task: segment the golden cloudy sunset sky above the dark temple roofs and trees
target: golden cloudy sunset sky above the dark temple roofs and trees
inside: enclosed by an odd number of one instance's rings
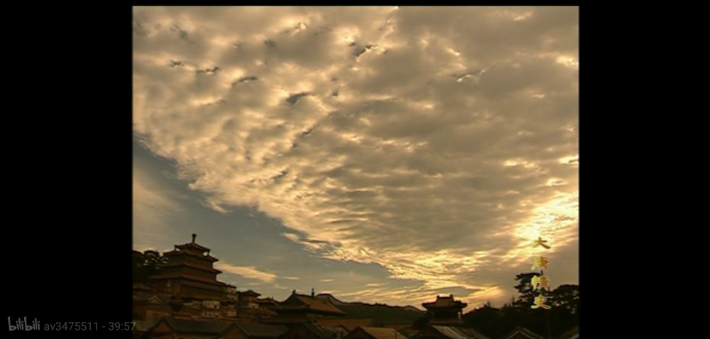
[[[502,306],[537,255],[578,284],[578,7],[134,7],[132,34],[134,249],[196,233],[277,300]]]

